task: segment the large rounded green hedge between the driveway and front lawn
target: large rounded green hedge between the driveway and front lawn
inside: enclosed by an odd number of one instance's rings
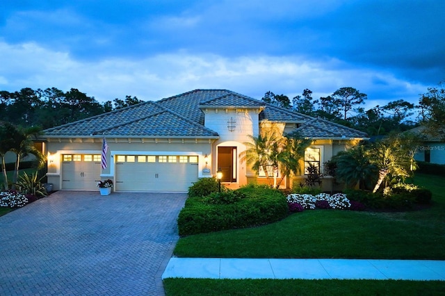
[[[178,217],[179,235],[254,227],[288,215],[284,195],[267,186],[248,185],[216,200],[214,194],[188,197]]]

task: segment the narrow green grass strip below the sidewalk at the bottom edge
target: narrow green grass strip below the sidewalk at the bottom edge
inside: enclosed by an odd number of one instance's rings
[[[166,295],[445,295],[441,281],[165,279]]]

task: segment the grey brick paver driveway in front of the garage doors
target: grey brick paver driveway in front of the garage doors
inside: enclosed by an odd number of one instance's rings
[[[55,192],[0,217],[0,295],[164,295],[186,194]]]

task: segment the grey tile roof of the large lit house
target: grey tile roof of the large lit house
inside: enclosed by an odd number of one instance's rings
[[[366,133],[327,120],[266,104],[230,90],[192,90],[159,101],[147,101],[44,131],[47,137],[209,137],[218,133],[204,126],[206,107],[262,108],[259,120],[296,122],[295,132],[309,138],[364,138]]]

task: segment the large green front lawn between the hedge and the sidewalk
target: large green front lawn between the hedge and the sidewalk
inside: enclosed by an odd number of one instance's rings
[[[180,257],[445,259],[442,177],[416,176],[433,191],[429,208],[408,212],[307,210],[251,229],[180,238]],[[437,184],[437,185],[435,185]]]

